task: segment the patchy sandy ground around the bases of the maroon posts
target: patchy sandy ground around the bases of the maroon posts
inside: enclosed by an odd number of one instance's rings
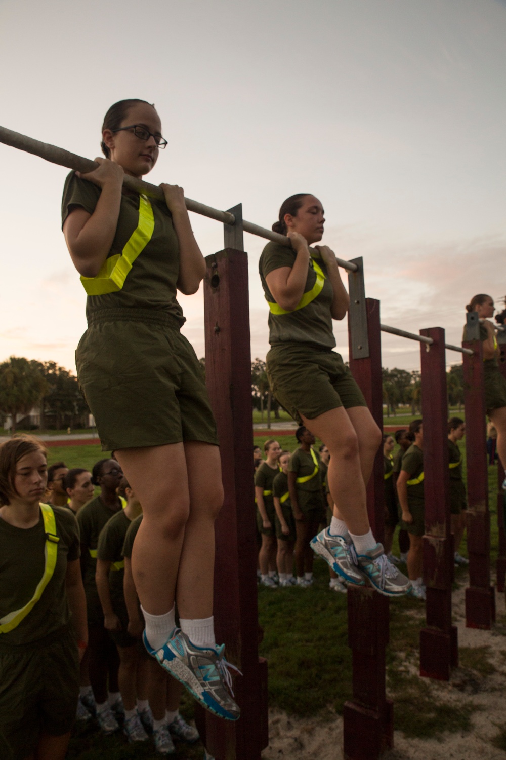
[[[506,760],[506,752],[495,748],[492,739],[506,727],[506,626],[504,595],[496,594],[498,624],[492,631],[465,627],[463,584],[454,592],[454,619],[460,647],[489,647],[497,671],[482,677],[476,671],[456,670],[449,683],[435,682],[441,701],[473,701],[480,709],[473,714],[469,733],[446,733],[440,739],[407,739],[394,734],[394,749],[383,760]],[[394,707],[395,709],[395,707]],[[288,717],[271,711],[270,743],[263,760],[342,760],[343,721],[331,722]]]

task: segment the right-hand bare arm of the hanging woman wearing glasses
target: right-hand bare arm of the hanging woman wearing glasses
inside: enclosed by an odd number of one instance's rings
[[[165,203],[172,214],[172,223],[179,242],[178,290],[191,296],[199,290],[206,274],[206,261],[200,252],[190,225],[190,217],[184,203],[184,191],[178,185],[160,185]]]

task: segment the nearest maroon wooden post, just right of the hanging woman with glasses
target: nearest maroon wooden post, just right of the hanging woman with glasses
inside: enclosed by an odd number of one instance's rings
[[[215,631],[234,677],[240,720],[206,713],[206,747],[216,760],[260,760],[269,743],[266,661],[258,657],[248,264],[244,251],[208,256],[204,283],[206,385],[218,425],[225,502],[216,521]],[[200,724],[202,724],[200,714]]]

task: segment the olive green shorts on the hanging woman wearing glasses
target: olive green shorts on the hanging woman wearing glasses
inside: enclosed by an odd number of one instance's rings
[[[218,445],[202,367],[174,318],[150,309],[95,313],[76,366],[103,451]]]

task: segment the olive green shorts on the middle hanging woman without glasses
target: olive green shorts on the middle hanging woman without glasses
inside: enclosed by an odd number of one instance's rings
[[[267,354],[272,393],[299,423],[338,407],[366,407],[362,391],[341,355],[311,344],[275,344]]]

